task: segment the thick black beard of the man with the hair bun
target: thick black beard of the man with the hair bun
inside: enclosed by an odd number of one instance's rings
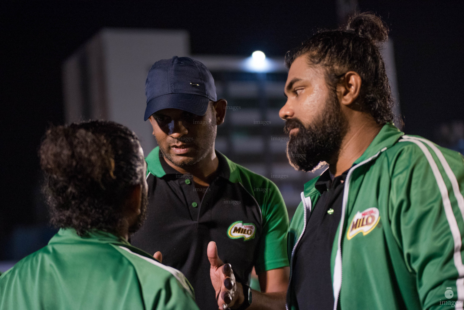
[[[332,94],[314,123],[306,128],[296,118],[287,120],[284,132],[288,134],[293,128],[299,131],[290,136],[287,158],[293,168],[308,172],[338,156],[343,137],[348,131],[348,122],[340,109],[338,98]]]

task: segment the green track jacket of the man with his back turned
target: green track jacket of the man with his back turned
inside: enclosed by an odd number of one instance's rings
[[[198,310],[187,279],[111,233],[60,229],[0,277],[0,310]]]

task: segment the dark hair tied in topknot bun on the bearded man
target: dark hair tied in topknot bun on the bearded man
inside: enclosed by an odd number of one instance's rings
[[[387,40],[385,23],[373,13],[360,13],[351,17],[345,28],[319,31],[287,52],[285,64],[290,68],[296,58],[305,55],[309,65],[325,68],[327,84],[333,91],[346,72],[357,72],[361,77],[357,101],[361,110],[371,114],[376,123],[385,124],[393,121],[393,99],[377,45]]]

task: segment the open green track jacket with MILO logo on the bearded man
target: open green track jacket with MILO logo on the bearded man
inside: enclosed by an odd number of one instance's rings
[[[320,197],[304,185],[290,223],[292,267]],[[334,310],[463,309],[464,158],[387,123],[350,168],[331,256]],[[323,296],[321,296],[323,298]]]

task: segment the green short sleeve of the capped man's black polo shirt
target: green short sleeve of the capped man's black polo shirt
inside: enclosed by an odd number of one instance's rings
[[[284,199],[277,186],[270,180],[264,193],[261,212],[263,233],[259,255],[255,264],[257,274],[271,269],[289,266],[287,258],[287,231],[289,217]]]

